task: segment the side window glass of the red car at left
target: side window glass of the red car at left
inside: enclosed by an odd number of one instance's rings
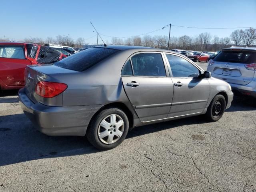
[[[0,46],[0,57],[25,59],[23,46]]]

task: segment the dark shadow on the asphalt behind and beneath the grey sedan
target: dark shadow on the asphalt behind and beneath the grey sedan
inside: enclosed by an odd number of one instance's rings
[[[131,130],[127,138],[206,121],[202,116],[142,126]],[[38,132],[24,114],[0,116],[0,166],[100,152],[80,136],[46,136]]]

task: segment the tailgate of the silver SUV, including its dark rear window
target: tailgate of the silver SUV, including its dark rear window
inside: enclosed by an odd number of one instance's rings
[[[213,76],[228,83],[246,85],[254,77],[255,70],[250,64],[256,63],[256,51],[224,50],[213,60]]]

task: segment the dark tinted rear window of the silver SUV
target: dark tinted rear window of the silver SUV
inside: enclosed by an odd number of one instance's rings
[[[222,51],[213,60],[218,62],[251,64],[256,62],[256,52]]]

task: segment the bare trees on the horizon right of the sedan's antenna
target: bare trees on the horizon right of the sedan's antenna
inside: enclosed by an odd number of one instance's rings
[[[167,36],[150,36],[146,35],[142,38],[139,36],[133,38],[112,38],[113,45],[133,45],[146,46],[154,48],[168,48]],[[197,36],[190,37],[187,35],[180,37],[170,37],[169,49],[184,49],[197,51],[217,51],[222,48],[235,46],[252,46],[256,43],[256,29],[249,28],[246,30],[235,30],[230,37],[219,38],[212,36],[208,32],[201,33]]]

